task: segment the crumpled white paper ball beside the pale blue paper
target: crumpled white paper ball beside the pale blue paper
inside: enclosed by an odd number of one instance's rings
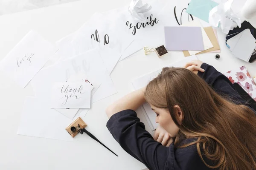
[[[240,18],[231,9],[233,1],[228,0],[225,3],[220,3],[209,12],[209,24],[214,27],[221,26],[221,30],[225,34],[237,26],[241,27]]]

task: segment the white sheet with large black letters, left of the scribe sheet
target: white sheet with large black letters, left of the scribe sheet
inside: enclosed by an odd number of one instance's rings
[[[111,20],[110,20],[111,18]],[[67,59],[98,48],[109,74],[121,54],[133,42],[125,23],[118,15],[95,13],[78,31],[56,42],[61,59]]]

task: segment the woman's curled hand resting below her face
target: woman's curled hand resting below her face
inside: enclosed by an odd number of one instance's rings
[[[170,144],[172,144],[173,142],[172,137],[169,136],[169,133],[161,126],[157,127],[154,132],[153,138],[155,141],[160,142],[163,146],[166,147],[170,146]]]

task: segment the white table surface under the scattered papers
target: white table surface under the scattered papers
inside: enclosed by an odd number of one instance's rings
[[[35,29],[47,40],[55,42],[76,31],[96,11],[108,11],[128,5],[129,0],[81,0],[0,17],[0,59]],[[256,20],[249,20],[256,26]],[[198,58],[226,72],[246,65],[252,76],[256,75],[256,62],[236,59],[225,46],[225,35],[218,30],[221,58],[201,54]],[[146,45],[145,45],[146,46]],[[63,142],[17,135],[20,113],[26,96],[33,95],[31,85],[21,89],[0,72],[0,170],[141,170],[145,165],[129,156],[113,139],[106,122],[105,108],[119,97],[132,91],[131,81],[172,62],[183,59],[182,52],[169,52],[161,59],[152,53],[148,56],[138,51],[119,62],[111,74],[117,94],[93,103],[83,117],[87,130],[119,155],[114,156],[86,135],[78,135],[74,142]],[[143,115],[138,112],[138,115]],[[70,121],[71,122],[71,121]],[[148,125],[146,125],[148,128]],[[35,127],[36,128],[36,127]]]

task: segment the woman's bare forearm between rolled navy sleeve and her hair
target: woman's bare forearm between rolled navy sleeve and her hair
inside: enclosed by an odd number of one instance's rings
[[[136,90],[117,100],[106,109],[108,118],[124,110],[137,110],[145,102],[145,88]]]

